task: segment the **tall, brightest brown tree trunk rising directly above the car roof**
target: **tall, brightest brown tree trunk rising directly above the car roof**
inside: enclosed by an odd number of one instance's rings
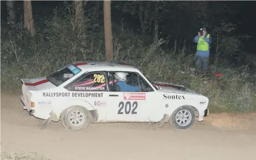
[[[104,1],[104,34],[106,60],[113,60],[113,35],[111,26],[111,1]]]

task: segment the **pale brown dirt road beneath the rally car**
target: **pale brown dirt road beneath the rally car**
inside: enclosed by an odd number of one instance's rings
[[[92,124],[72,132],[61,122],[43,131],[23,110],[19,94],[1,93],[2,159],[255,159],[256,114],[218,114],[189,130],[168,123]],[[43,157],[42,157],[43,156]]]

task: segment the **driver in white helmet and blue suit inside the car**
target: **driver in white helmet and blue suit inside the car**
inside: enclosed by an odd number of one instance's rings
[[[118,80],[118,82],[116,82],[116,84],[118,84],[118,86],[120,87],[120,92],[137,92],[140,87],[138,86],[131,86],[129,84],[126,83],[126,76],[129,75],[129,73],[125,73],[125,72],[116,72],[114,74],[114,77],[116,80]]]

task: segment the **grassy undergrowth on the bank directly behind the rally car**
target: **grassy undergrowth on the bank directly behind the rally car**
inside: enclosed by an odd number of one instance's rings
[[[21,89],[20,78],[45,76],[71,62],[104,61],[104,28],[90,25],[77,30],[69,18],[55,16],[42,29],[36,28],[34,38],[23,29],[10,32],[1,27],[1,87]],[[116,26],[113,37],[114,61],[136,66],[151,81],[198,90],[209,97],[212,112],[256,110],[256,75],[249,74],[246,66],[217,67],[223,77],[213,76],[216,67],[204,75],[195,70],[193,56],[162,50],[161,39],[145,45],[140,35]]]

